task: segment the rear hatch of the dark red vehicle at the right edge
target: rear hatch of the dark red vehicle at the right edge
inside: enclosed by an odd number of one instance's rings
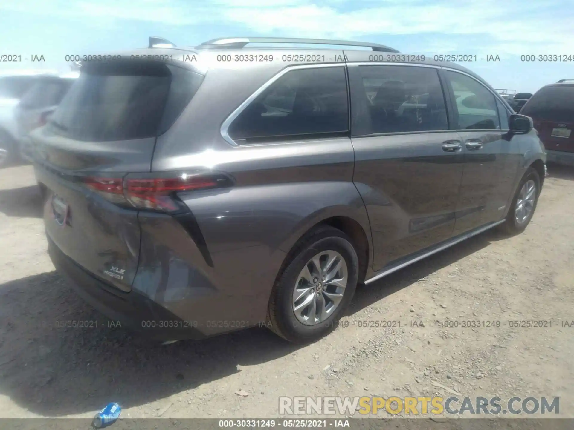
[[[574,153],[574,85],[541,88],[520,111],[534,122],[546,150]]]

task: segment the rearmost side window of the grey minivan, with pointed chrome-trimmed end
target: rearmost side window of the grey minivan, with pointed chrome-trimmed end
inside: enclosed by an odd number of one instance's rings
[[[241,144],[348,130],[345,71],[328,67],[285,73],[239,114],[227,132]]]

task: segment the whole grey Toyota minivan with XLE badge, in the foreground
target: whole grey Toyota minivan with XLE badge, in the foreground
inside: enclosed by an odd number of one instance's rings
[[[312,341],[357,283],[532,218],[532,120],[460,65],[349,41],[153,45],[84,63],[32,134],[53,263],[149,337],[264,323]]]

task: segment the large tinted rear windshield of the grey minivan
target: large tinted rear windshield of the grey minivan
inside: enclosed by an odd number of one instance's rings
[[[88,65],[52,116],[51,128],[84,141],[157,136],[172,126],[202,81],[198,73],[164,63]]]

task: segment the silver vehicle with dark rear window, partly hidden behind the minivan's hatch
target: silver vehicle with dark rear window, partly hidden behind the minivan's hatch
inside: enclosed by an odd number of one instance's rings
[[[44,126],[48,117],[56,110],[68,89],[80,76],[79,71],[63,75],[39,76],[32,87],[24,94],[15,108],[17,139],[20,157],[32,162],[32,143],[29,134],[32,130]]]

